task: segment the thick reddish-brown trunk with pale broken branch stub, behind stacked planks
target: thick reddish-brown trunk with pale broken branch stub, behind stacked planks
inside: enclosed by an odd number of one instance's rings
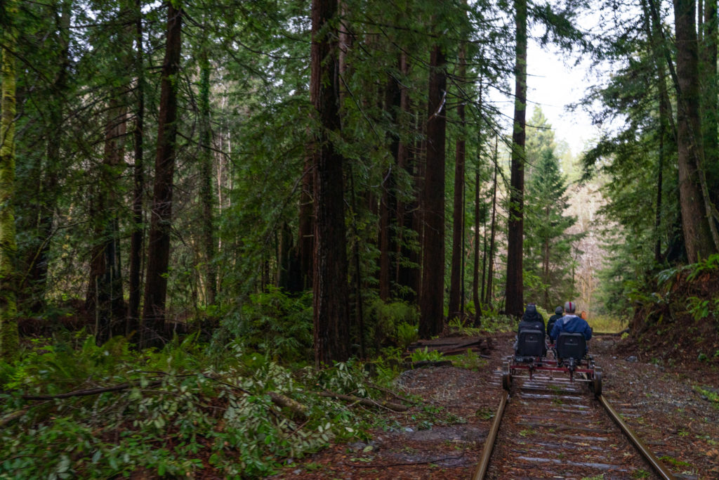
[[[422,286],[419,337],[431,338],[444,328],[444,145],[446,139],[446,73],[439,45],[429,60],[429,119],[423,185]]]

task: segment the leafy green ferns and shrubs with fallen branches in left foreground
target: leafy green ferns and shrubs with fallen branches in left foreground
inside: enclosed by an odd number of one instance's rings
[[[369,394],[354,362],[297,375],[240,343],[218,357],[195,338],[140,353],[75,341],[0,362],[0,478],[256,478],[372,420],[316,393]]]

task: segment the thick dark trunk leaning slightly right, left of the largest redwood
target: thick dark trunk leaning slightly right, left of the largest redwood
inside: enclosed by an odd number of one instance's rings
[[[157,122],[155,183],[152,189],[150,239],[147,245],[145,305],[142,309],[142,345],[160,345],[165,327],[165,301],[168,291],[170,232],[172,228],[173,175],[178,112],[178,73],[182,10],[168,4],[168,32],[160,83],[160,114]]]

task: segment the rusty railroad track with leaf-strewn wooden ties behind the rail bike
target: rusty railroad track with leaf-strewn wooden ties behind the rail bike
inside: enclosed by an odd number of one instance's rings
[[[535,373],[510,384],[473,480],[674,478],[587,383]]]

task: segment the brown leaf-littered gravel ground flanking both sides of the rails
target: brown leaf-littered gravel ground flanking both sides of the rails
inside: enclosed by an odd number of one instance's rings
[[[493,335],[490,358],[476,371],[455,366],[404,371],[397,389],[421,402],[407,412],[377,412],[378,426],[367,441],[330,445],[288,462],[272,478],[471,478],[498,407],[501,363],[513,339],[510,333]],[[717,338],[709,341],[707,348],[719,351]],[[613,335],[590,341],[603,370],[603,394],[613,404],[631,405],[635,415],[625,420],[678,478],[719,479],[719,358],[697,359],[697,350],[658,358],[652,344],[649,338],[638,343]],[[533,453],[541,456],[541,450]]]

